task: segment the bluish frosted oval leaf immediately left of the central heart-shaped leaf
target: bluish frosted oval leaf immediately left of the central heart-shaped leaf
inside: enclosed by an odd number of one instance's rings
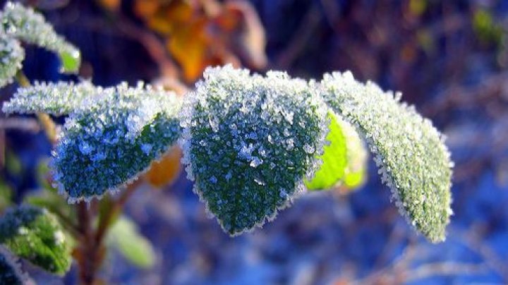
[[[85,99],[66,120],[52,169],[69,202],[100,198],[133,181],[179,136],[179,99],[121,84]]]

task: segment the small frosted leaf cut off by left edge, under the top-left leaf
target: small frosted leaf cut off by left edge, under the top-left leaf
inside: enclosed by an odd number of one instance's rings
[[[20,42],[8,37],[0,29],[0,87],[12,83],[14,76],[21,69],[25,59],[25,50]]]

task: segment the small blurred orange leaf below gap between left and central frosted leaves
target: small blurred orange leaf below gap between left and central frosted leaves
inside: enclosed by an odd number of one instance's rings
[[[159,162],[152,162],[150,170],[145,174],[146,181],[155,188],[162,188],[173,182],[181,172],[181,155],[180,147],[171,147]]]

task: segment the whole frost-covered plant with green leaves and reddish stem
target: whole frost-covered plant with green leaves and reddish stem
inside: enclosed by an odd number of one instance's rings
[[[401,103],[399,93],[359,83],[349,72],[316,82],[232,66],[207,68],[183,100],[144,83],[30,85],[20,72],[19,40],[56,52],[68,72],[78,71],[79,51],[31,8],[8,2],[0,20],[0,87],[13,78],[21,85],[3,111],[36,114],[49,135],[58,133],[51,181],[67,202],[77,202],[60,203],[49,190],[1,217],[0,268],[6,273],[0,282],[26,279],[11,262],[16,255],[60,275],[74,258],[80,280],[92,284],[104,239],[136,264],[152,265],[143,259],[153,255],[150,243],[126,217],[118,218],[133,188],[123,189],[177,141],[193,190],[231,236],[271,221],[306,190],[360,186],[363,138],[401,214],[429,241],[445,238],[452,214],[450,155],[442,134]],[[55,127],[49,115],[64,116],[65,123]],[[97,216],[90,209],[95,206]],[[131,247],[146,254],[140,260]]]

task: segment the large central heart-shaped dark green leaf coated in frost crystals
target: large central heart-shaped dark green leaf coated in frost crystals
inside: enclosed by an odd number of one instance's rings
[[[317,87],[279,72],[207,68],[196,87],[182,110],[182,161],[224,231],[241,234],[274,219],[313,175],[327,108]]]

